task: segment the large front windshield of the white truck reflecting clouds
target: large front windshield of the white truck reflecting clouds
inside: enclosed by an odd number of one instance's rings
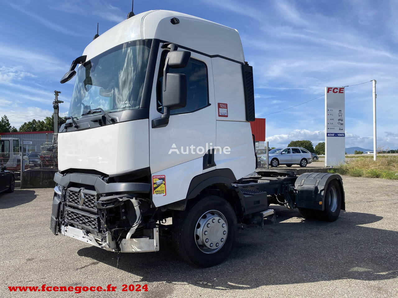
[[[80,65],[68,116],[81,118],[90,109],[105,112],[140,107],[151,41],[116,46]]]

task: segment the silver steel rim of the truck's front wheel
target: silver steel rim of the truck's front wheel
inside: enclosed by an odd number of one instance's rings
[[[196,223],[195,242],[201,252],[217,252],[224,245],[227,235],[228,223],[220,211],[207,211]]]

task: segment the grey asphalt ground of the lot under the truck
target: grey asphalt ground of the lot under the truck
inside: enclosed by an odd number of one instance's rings
[[[232,254],[207,269],[174,253],[117,254],[54,236],[52,189],[0,194],[0,297],[397,297],[398,181],[343,176],[346,212],[308,221],[271,205],[277,223],[238,229]],[[10,292],[8,286],[117,286],[116,292]],[[147,292],[122,292],[148,284]]]

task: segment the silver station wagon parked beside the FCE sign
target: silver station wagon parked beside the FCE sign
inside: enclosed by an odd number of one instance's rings
[[[261,156],[260,158],[265,162],[267,161],[266,156]],[[275,148],[268,153],[268,164],[273,167],[280,164],[307,166],[309,163],[312,163],[311,153],[301,147]]]

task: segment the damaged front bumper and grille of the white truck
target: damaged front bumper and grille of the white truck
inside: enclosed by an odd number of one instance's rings
[[[159,250],[158,228],[154,224],[142,226],[141,201],[137,199],[150,192],[150,184],[107,183],[100,176],[88,174],[56,173],[54,180],[57,186],[50,224],[53,234],[113,252]],[[128,232],[118,236],[113,234],[115,230]]]

